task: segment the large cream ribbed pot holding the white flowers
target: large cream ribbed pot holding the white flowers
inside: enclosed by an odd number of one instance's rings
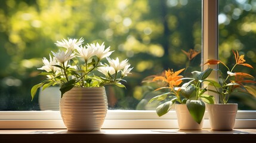
[[[60,114],[67,130],[100,130],[107,114],[105,88],[72,88],[60,100]]]

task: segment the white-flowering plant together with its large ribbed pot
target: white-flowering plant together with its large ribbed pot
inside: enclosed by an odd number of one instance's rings
[[[128,60],[119,61],[109,56],[113,51],[104,43],[88,43],[84,39],[63,39],[51,51],[50,59],[43,58],[44,70],[40,75],[47,78],[31,89],[32,100],[38,88],[59,85],[61,91],[60,113],[68,130],[99,130],[107,111],[105,85],[121,88],[121,81],[132,68]],[[107,63],[103,63],[107,61]],[[89,119],[90,118],[90,119]],[[70,120],[72,119],[72,120]]]

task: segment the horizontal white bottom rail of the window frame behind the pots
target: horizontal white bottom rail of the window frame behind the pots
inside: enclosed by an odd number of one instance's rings
[[[104,129],[177,129],[175,111],[108,110]],[[211,128],[205,113],[203,129]],[[238,111],[236,129],[256,129],[256,111]],[[66,129],[59,111],[0,111],[0,129]]]

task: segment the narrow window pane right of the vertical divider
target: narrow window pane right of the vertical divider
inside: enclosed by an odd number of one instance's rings
[[[256,77],[256,1],[255,0],[227,0],[219,1],[219,57],[226,65],[235,65],[232,52],[238,51],[245,55],[245,63],[254,69],[237,66],[234,72],[245,72]],[[220,66],[221,70],[225,67]],[[254,80],[255,81],[255,80]],[[254,87],[255,84],[246,84]],[[256,98],[250,94],[233,92],[230,102],[238,103],[239,110],[256,110]]]

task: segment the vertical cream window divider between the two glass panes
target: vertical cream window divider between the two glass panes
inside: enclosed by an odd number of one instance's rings
[[[208,59],[218,59],[218,0],[203,0],[202,1],[202,64]],[[211,67],[218,69],[217,65],[202,66],[202,71]],[[213,71],[208,79],[218,80],[217,72]],[[208,87],[211,88],[211,87]],[[214,90],[214,88],[212,87]],[[218,103],[218,95],[214,95],[215,101]]]

